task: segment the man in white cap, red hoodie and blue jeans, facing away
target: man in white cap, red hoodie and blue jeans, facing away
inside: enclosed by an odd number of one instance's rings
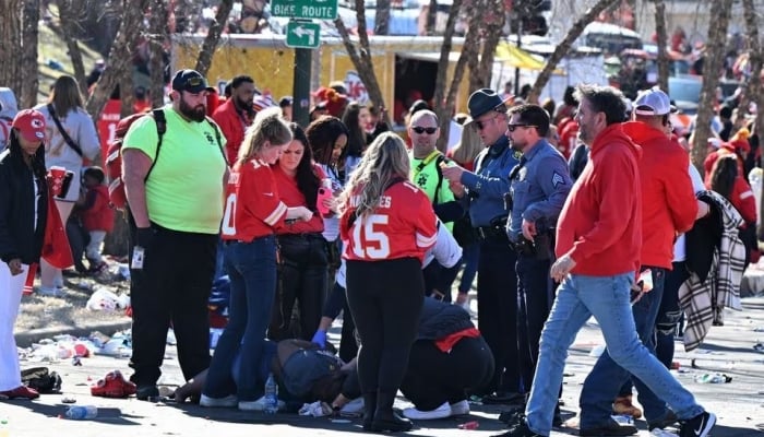
[[[699,211],[707,205],[695,199],[688,173],[690,157],[678,142],[666,134],[671,114],[669,96],[658,88],[641,92],[634,101],[633,121],[623,123],[623,133],[642,147],[640,191],[642,192],[642,248],[640,273],[650,275],[652,290],[638,295],[632,305],[636,332],[642,343],[655,353],[655,320],[664,294],[664,281],[671,270],[673,240],[689,231]],[[701,206],[702,205],[702,206]],[[648,292],[648,293],[647,293]],[[677,421],[666,402],[658,399],[642,381],[634,379],[640,403],[650,429]],[[623,386],[623,388],[621,388]],[[619,392],[618,390],[621,389]],[[638,418],[642,413],[631,404],[632,382],[629,371],[616,364],[606,351],[584,381],[581,391],[581,435],[631,435],[636,428],[621,426],[611,410]],[[619,394],[616,398],[616,394]],[[616,398],[616,403],[611,409]]]

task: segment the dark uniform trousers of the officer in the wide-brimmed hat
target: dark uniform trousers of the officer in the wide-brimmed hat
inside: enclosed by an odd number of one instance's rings
[[[520,392],[517,361],[517,253],[505,238],[480,240],[478,328],[493,353],[492,391]]]

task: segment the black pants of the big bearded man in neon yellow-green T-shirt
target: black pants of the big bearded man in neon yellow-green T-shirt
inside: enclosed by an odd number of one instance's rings
[[[144,247],[143,269],[131,269],[133,354],[130,378],[139,386],[159,379],[167,329],[178,341],[178,361],[186,380],[210,367],[207,300],[215,271],[217,234],[183,233],[152,225],[155,235]],[[131,235],[132,257],[134,229]]]

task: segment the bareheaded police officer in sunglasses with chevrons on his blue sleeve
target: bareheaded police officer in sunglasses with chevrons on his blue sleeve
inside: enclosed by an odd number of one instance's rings
[[[525,392],[530,392],[538,342],[553,300],[549,268],[554,225],[572,182],[565,158],[545,138],[549,114],[538,105],[520,105],[509,116],[506,137],[523,155],[510,173],[506,234],[517,252],[520,373]]]

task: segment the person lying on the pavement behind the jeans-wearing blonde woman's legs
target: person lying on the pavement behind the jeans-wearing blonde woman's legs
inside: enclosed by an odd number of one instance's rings
[[[252,371],[258,383],[264,386],[272,373],[279,385],[279,409],[297,411],[303,402],[326,402],[338,411],[351,400],[360,397],[356,359],[343,363],[329,343],[321,347],[305,340],[289,339],[280,342],[263,340],[263,358]],[[239,375],[240,356],[234,361],[231,378]],[[206,381],[203,370],[175,392],[176,402],[198,400]],[[282,404],[280,401],[285,403]],[[264,408],[264,398],[256,401]],[[214,406],[236,406],[230,405]],[[206,405],[205,405],[206,406]],[[261,409],[262,410],[262,409]]]

